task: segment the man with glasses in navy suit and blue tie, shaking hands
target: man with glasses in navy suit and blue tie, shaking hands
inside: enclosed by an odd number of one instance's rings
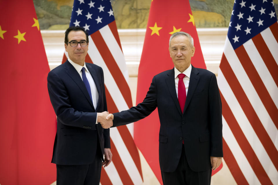
[[[83,28],[66,30],[65,50],[68,60],[47,76],[57,116],[52,156],[57,185],[99,184],[101,166],[108,166],[112,160],[109,129],[98,124],[107,115],[103,70],[85,63],[88,34]],[[112,120],[109,122],[112,124]]]

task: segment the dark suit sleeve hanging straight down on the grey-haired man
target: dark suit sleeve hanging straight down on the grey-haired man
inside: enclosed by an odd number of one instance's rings
[[[209,84],[209,115],[211,126],[211,156],[223,157],[222,149],[222,103],[215,75]]]

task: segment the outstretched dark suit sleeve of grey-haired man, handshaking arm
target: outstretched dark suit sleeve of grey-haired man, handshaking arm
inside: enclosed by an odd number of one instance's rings
[[[129,110],[114,113],[113,127],[136,122],[151,114],[157,107],[156,90],[156,79],[153,77],[144,101],[135,107],[131,107]]]

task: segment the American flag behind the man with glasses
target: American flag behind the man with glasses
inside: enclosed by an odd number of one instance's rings
[[[75,0],[69,26],[83,27],[89,34],[85,62],[103,69],[108,112],[120,112],[132,107],[129,75],[111,2]],[[142,184],[139,153],[132,136],[132,124],[110,129],[113,158],[108,167],[102,168],[101,184]]]

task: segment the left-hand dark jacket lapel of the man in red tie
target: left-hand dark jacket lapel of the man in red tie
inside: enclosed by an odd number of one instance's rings
[[[168,76],[166,77],[165,81],[168,87],[168,90],[173,98],[173,101],[176,105],[176,107],[178,108],[180,114],[182,115],[182,111],[180,110],[180,104],[178,101],[178,97],[177,97],[177,92],[176,92],[176,87],[175,87],[175,72],[174,69],[172,69],[168,74]]]

